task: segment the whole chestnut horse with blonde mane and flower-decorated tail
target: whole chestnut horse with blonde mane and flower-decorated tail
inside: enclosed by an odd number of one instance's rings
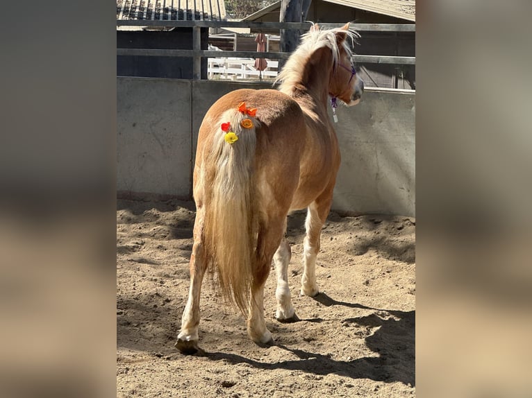
[[[295,320],[285,240],[287,215],[308,209],[301,294],[318,294],[316,255],[333,199],[340,150],[327,114],[329,96],[356,105],[363,82],[351,64],[342,28],[314,25],[290,55],[275,89],[238,89],[210,107],[199,128],[193,194],[197,215],[190,257],[190,291],[176,347],[198,351],[199,297],[206,270],[222,295],[247,316],[247,332],[272,344],[263,293],[275,263],[276,318]]]

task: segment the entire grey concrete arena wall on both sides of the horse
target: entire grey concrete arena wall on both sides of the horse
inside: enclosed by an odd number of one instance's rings
[[[117,78],[117,190],[190,197],[203,115],[234,89],[269,84]],[[415,216],[415,95],[367,90],[338,107],[333,209]],[[332,116],[331,116],[332,117]]]

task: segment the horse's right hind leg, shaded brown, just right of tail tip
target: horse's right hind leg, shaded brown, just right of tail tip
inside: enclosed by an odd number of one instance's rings
[[[272,266],[272,259],[276,248],[283,237],[283,217],[270,218],[267,225],[261,224],[257,239],[256,268],[253,270],[251,283],[251,302],[247,320],[247,333],[256,343],[273,343],[272,334],[266,327],[264,320],[264,285]]]

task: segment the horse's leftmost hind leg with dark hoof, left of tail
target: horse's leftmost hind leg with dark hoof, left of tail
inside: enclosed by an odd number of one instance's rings
[[[207,269],[203,245],[203,214],[203,209],[199,208],[194,222],[194,245],[190,256],[190,291],[176,343],[176,347],[183,354],[195,354],[198,351],[199,297],[201,282]]]

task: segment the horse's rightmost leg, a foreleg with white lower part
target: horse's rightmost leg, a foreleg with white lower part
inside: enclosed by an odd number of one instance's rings
[[[304,248],[304,271],[301,277],[301,295],[314,297],[319,293],[316,284],[316,256],[319,252],[319,239],[322,234],[322,226],[331,209],[331,195],[317,198],[310,203],[305,222]]]

